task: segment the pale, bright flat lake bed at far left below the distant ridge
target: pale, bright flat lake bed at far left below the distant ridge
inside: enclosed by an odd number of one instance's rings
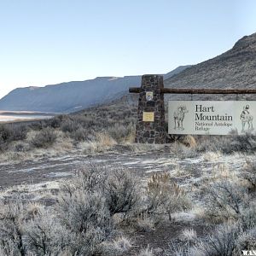
[[[1,111],[0,110],[0,123],[16,122],[32,119],[49,119],[55,113],[44,112],[26,112],[26,111]]]

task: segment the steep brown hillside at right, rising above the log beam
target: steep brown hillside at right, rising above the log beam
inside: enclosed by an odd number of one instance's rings
[[[241,38],[224,54],[166,79],[165,86],[253,88],[256,86],[256,33]]]

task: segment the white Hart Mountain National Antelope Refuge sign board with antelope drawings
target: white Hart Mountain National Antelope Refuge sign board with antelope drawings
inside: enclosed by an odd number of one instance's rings
[[[254,117],[255,115],[255,117]],[[169,101],[169,134],[228,135],[253,132],[256,102]]]

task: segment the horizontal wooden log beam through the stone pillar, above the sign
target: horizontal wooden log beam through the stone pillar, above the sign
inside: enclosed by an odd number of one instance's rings
[[[141,88],[131,87],[129,88],[131,93],[140,93]],[[173,89],[173,88],[161,88],[161,93],[172,94],[256,94],[256,89]]]

